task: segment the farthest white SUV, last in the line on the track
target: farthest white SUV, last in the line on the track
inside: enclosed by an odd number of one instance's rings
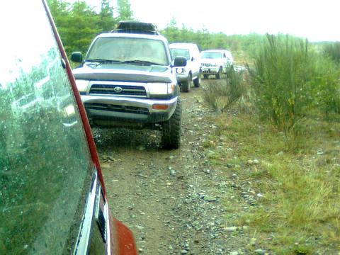
[[[221,79],[222,74],[227,72],[227,67],[234,62],[232,53],[228,50],[203,50],[200,57],[204,79],[208,79],[210,74],[215,75],[216,79]]]

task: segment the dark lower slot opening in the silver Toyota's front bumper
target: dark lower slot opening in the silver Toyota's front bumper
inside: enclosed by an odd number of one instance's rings
[[[119,106],[106,103],[84,103],[86,109],[112,111],[118,113],[136,113],[148,115],[149,110],[147,108],[135,107],[135,106]]]

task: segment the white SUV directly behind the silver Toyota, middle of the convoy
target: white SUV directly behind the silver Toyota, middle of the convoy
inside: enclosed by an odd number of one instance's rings
[[[192,84],[200,86],[200,50],[195,43],[171,43],[171,56],[186,57],[186,67],[176,67],[177,81],[183,92],[189,92]]]

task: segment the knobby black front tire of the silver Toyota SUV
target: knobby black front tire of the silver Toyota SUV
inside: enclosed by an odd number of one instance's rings
[[[171,118],[162,123],[162,145],[164,149],[179,149],[181,145],[182,102],[177,98],[177,106]]]

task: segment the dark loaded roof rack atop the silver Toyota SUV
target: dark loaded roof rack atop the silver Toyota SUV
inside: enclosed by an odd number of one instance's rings
[[[159,35],[157,26],[153,23],[140,21],[120,21],[117,28],[111,30],[111,33],[139,33],[147,35]]]

